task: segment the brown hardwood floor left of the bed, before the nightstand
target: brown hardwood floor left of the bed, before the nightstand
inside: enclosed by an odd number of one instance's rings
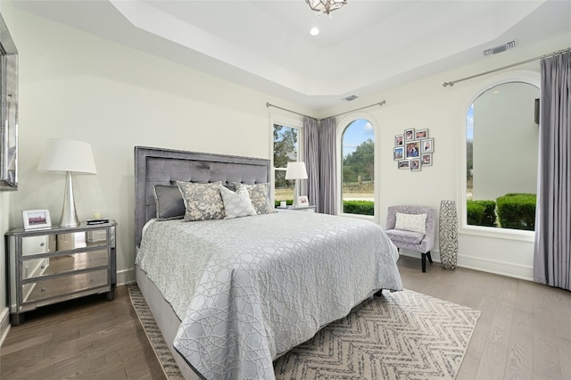
[[[0,348],[0,378],[165,379],[126,286],[26,313]]]

